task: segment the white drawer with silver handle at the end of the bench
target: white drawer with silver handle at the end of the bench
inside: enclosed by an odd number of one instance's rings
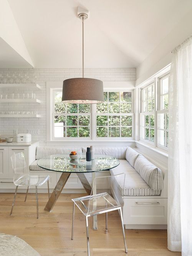
[[[167,224],[167,198],[124,198],[124,224]]]

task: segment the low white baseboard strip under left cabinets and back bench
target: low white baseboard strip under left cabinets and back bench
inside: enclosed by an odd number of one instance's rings
[[[50,193],[52,193],[52,192],[53,192],[53,189],[50,189]],[[3,190],[1,189],[0,193],[15,193],[15,189],[3,189]],[[26,193],[26,189],[18,189],[17,193]],[[35,189],[33,189],[33,188],[29,189],[28,193],[35,193]],[[48,193],[48,192],[47,192],[47,189],[40,188],[40,189],[38,189],[38,193]],[[66,188],[61,193],[62,194],[86,194],[86,191],[84,189],[80,189],[80,188],[79,189],[78,188],[75,188],[75,189]]]

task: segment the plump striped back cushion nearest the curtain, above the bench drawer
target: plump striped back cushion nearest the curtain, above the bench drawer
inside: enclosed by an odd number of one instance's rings
[[[135,170],[141,175],[144,181],[152,190],[163,189],[163,173],[148,161],[144,156],[139,155],[134,164]]]

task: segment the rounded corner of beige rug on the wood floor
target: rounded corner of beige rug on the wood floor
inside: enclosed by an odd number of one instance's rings
[[[0,234],[0,256],[40,256],[40,254],[21,238]]]

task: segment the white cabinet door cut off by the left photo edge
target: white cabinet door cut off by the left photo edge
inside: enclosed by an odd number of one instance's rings
[[[0,147],[0,178],[8,178],[8,147]]]

